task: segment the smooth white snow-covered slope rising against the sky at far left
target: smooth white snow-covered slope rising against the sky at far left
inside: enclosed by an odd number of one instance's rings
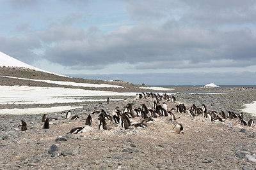
[[[13,57],[10,57],[9,55],[0,52],[0,67],[24,67],[28,69],[35,69],[36,71],[42,71],[45,73],[50,73],[49,71],[45,71],[43,69],[38,69],[37,67],[30,66],[29,64],[26,64],[25,62],[22,62],[20,60],[14,59]]]

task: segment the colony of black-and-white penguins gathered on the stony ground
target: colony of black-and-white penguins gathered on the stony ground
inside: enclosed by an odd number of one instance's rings
[[[166,103],[176,103],[176,99],[174,96],[168,96],[167,94],[155,94],[155,93],[141,93],[136,95],[136,99],[153,99],[152,108],[148,108],[146,104],[141,104],[138,108],[132,108],[132,104],[128,103],[124,106],[123,110],[119,110],[117,107],[115,111],[113,111],[112,115],[107,114],[103,109],[100,111],[93,111],[92,114],[98,114],[98,129],[99,130],[108,130],[111,129],[110,125],[114,125],[116,127],[120,127],[120,129],[132,129],[132,128],[147,128],[149,124],[154,122],[154,118],[157,117],[167,117],[170,121],[175,121],[178,118],[175,117],[175,113],[184,113],[190,115],[190,117],[197,117],[202,115],[202,117],[209,120],[209,122],[220,121],[224,122],[227,118],[234,119],[237,118],[239,124],[248,125],[249,127],[253,127],[255,125],[254,120],[250,119],[248,122],[244,120],[243,113],[237,114],[232,111],[221,111],[220,113],[217,111],[209,111],[205,104],[202,104],[202,108],[198,108],[195,104],[193,104],[188,110],[185,104],[177,104],[176,108],[168,109]],[[107,103],[109,103],[109,97],[107,99]],[[79,119],[78,115],[74,115],[71,117],[71,110],[67,112],[63,112],[65,114],[66,119],[77,120]],[[141,118],[141,119],[140,119]],[[42,116],[42,122],[44,122],[44,129],[49,129],[51,120],[58,120],[58,118],[48,118],[47,114]],[[140,121],[138,121],[140,120]],[[27,124],[22,121],[21,131],[27,130]],[[81,120],[82,121],[82,120]],[[177,122],[177,121],[176,121]],[[174,131],[177,134],[182,134],[184,127],[180,123],[175,123],[176,125],[170,131]],[[85,124],[81,127],[75,127],[71,129],[69,134],[78,134],[86,131],[86,129],[92,128],[92,116],[89,114],[85,120]],[[67,133],[67,134],[68,134]]]

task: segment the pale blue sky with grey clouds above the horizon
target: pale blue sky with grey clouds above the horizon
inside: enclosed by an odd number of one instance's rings
[[[256,84],[255,0],[0,0],[0,51],[146,85]]]

